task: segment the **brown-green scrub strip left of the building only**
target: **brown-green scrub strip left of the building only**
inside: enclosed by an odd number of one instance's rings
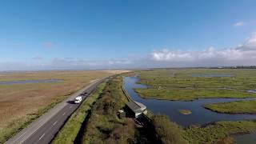
[[[122,92],[122,77],[110,79],[102,97],[95,103],[89,118],[83,143],[130,143],[143,141],[133,119],[118,118],[117,111],[127,102]]]

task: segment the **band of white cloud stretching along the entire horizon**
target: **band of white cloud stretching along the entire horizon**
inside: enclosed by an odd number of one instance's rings
[[[134,51],[135,53],[136,51]],[[82,70],[125,69],[182,66],[239,66],[256,65],[256,33],[238,46],[206,50],[155,50],[147,56],[88,60],[83,58],[34,57],[31,62],[0,62],[1,70]]]

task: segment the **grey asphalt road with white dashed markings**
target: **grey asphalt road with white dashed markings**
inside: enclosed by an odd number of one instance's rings
[[[93,82],[89,86],[72,94],[70,98],[54,106],[49,112],[43,114],[24,130],[10,138],[6,144],[50,143],[54,135],[57,134],[58,130],[65,124],[67,118],[78,108],[79,104],[72,104],[71,101],[79,95],[81,95],[82,100],[84,100],[104,80],[106,80],[106,78]]]

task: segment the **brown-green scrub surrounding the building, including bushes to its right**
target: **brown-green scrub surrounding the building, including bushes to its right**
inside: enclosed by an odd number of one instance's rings
[[[182,130],[165,116],[151,115],[150,126],[137,126],[132,118],[118,118],[127,102],[122,78],[108,82],[84,129],[83,143],[186,143]]]

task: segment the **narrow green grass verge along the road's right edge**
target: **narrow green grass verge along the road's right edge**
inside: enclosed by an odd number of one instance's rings
[[[89,114],[94,102],[96,102],[100,94],[102,94],[102,90],[104,90],[105,86],[106,83],[102,83],[100,86],[98,86],[98,90],[94,91],[93,94],[90,94],[90,96],[86,98],[84,102],[82,102],[78,110],[71,115],[69,120],[62,127],[62,130],[58,132],[57,136],[54,138],[54,144],[74,143],[74,140],[81,129],[82,122],[85,121],[86,116]]]

